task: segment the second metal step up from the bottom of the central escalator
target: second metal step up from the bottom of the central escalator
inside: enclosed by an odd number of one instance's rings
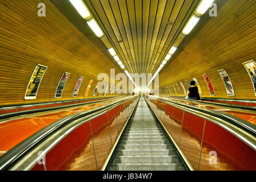
[[[170,156],[117,156],[113,164],[180,164],[176,155]]]

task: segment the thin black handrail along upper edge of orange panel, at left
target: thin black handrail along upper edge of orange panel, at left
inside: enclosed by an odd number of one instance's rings
[[[115,98],[107,98],[105,100],[82,102],[82,103],[70,104],[70,105],[62,105],[62,106],[53,106],[53,107],[44,107],[44,108],[38,108],[38,109],[29,109],[29,110],[16,111],[16,112],[13,112],[13,113],[0,114],[0,119],[6,119],[6,118],[15,117],[15,116],[24,115],[24,114],[41,113],[41,112],[44,112],[44,111],[50,111],[50,110],[56,110],[56,109],[65,109],[65,108],[69,108],[69,107],[81,106],[81,105],[85,105],[85,104],[92,104],[92,103],[95,103],[95,102],[103,102],[103,101],[114,100],[114,99]],[[1,121],[0,121],[0,123],[1,123]]]

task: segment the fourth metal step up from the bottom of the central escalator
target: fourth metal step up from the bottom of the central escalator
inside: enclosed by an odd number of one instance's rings
[[[170,144],[119,144],[118,150],[161,150],[161,149],[174,149]]]

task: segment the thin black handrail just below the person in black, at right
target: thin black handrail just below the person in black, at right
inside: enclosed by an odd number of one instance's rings
[[[209,102],[209,101],[200,101],[200,100],[187,100],[185,98],[175,98],[175,97],[169,97],[174,100],[182,100],[182,101],[191,101],[191,102],[199,102],[203,104],[211,104],[211,105],[217,105],[217,106],[223,106],[223,107],[232,107],[235,109],[243,109],[247,111],[256,111],[256,107],[253,106],[243,106],[243,105],[234,105],[234,104],[223,104],[218,102]]]

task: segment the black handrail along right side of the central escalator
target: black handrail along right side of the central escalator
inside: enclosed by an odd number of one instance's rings
[[[221,118],[224,121],[227,121],[227,122],[239,127],[240,129],[246,131],[247,133],[250,133],[253,136],[256,136],[256,126],[253,125],[253,123],[247,122],[241,118],[237,118],[237,117],[234,117],[233,115],[226,114],[226,113],[220,113],[218,111],[207,110],[207,109],[203,109],[203,108],[199,108],[199,107],[195,107],[195,106],[191,106],[191,105],[187,105],[187,104],[181,104],[178,102],[165,100],[163,98],[158,98],[158,99],[165,101],[166,103],[171,103],[171,104],[187,107],[189,109],[201,111],[202,113],[206,113],[209,115],[213,115],[214,117]]]

